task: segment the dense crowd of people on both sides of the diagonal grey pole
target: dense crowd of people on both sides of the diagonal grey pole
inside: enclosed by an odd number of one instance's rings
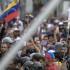
[[[0,60],[28,31],[34,16],[16,17],[6,23],[0,20]],[[10,61],[7,70],[70,70],[70,38],[65,17],[44,20],[35,34]],[[13,50],[12,50],[13,52]]]

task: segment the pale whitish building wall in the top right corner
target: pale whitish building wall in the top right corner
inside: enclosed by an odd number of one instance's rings
[[[70,7],[70,0],[65,0],[60,3],[60,5],[57,7],[57,16],[60,16],[61,14],[67,15],[67,10]]]

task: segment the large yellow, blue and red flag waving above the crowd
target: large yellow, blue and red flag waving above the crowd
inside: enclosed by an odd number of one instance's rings
[[[9,6],[5,9],[0,18],[4,18],[6,22],[10,22],[17,16],[19,16],[19,2],[13,0],[13,2],[11,2]]]

